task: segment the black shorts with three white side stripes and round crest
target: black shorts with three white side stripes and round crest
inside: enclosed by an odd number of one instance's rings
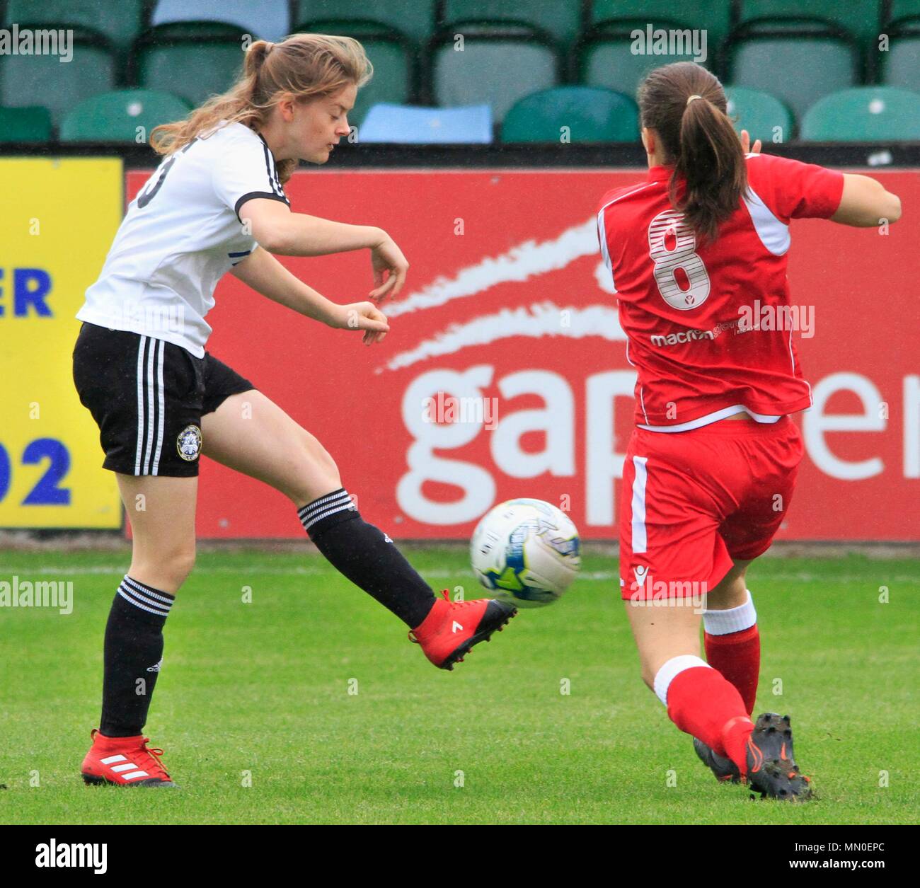
[[[99,427],[103,468],[124,475],[198,474],[201,417],[255,388],[205,352],[140,333],[84,323],[74,385]]]

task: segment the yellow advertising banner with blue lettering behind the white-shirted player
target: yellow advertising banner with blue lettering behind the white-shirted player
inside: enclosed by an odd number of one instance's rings
[[[71,369],[121,189],[117,158],[0,159],[0,527],[121,526]]]

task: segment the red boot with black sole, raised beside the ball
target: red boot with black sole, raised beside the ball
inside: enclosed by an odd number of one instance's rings
[[[447,590],[438,598],[419,626],[410,629],[408,640],[421,645],[425,656],[439,669],[453,669],[474,644],[488,641],[492,633],[517,614],[517,608],[492,598],[451,601]]]

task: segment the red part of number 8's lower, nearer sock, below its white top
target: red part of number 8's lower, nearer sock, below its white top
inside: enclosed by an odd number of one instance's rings
[[[745,747],[753,722],[735,686],[718,670],[692,666],[675,675],[667,689],[668,716],[681,731],[698,737],[747,773]]]

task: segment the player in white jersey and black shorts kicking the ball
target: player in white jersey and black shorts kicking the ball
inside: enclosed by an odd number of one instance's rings
[[[349,133],[348,112],[371,71],[361,44],[345,37],[253,43],[235,86],[155,129],[151,142],[166,157],[86,291],[74,381],[98,423],[103,466],[116,473],[133,536],[106,626],[102,719],[82,769],[88,783],[173,785],[162,750],[141,732],[163,626],[195,559],[202,453],[287,495],[320,552],[402,619],[436,666],[452,669],[514,614],[487,599],[436,598],[389,536],[362,520],[316,438],[205,351],[205,315],[227,271],[301,315],[362,330],[365,344],[384,339],[374,302],[330,302],[271,255],[369,249],[371,298],[402,287],[408,264],[383,230],[292,213],[283,189],[298,160],[326,163]]]

